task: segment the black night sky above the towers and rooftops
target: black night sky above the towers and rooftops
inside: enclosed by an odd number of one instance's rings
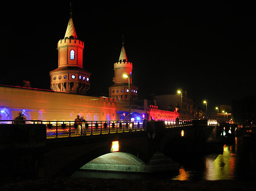
[[[57,42],[69,20],[69,1],[60,2],[2,5],[0,84],[29,80],[34,88],[50,89],[49,71],[57,68]],[[108,96],[122,35],[140,98],[182,88],[201,108],[207,99],[213,111],[256,94],[253,5],[145,3],[73,2],[77,37],[85,43],[84,69],[92,73],[88,94]]]

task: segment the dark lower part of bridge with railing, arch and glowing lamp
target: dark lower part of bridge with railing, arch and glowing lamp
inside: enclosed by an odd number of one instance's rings
[[[216,122],[207,120],[0,122],[1,175],[10,176],[70,176],[111,152],[149,165],[156,151],[188,152],[217,137]]]

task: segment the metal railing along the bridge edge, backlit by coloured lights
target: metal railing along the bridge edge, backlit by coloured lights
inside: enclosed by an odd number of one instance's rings
[[[0,120],[0,124],[46,124],[47,138],[144,131],[148,121],[40,121]],[[192,125],[192,120],[164,121],[166,128]]]

